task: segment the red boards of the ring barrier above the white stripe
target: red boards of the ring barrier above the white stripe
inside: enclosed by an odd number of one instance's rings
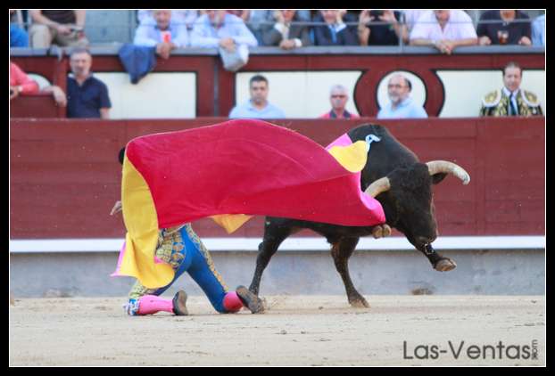
[[[109,216],[120,197],[120,148],[138,135],[224,120],[12,119],[11,238],[121,237],[125,233],[121,217]],[[326,145],[352,127],[377,121],[273,122]],[[544,118],[380,120],[379,124],[422,161],[448,159],[470,174],[466,186],[453,177],[435,186],[442,235],[544,234]],[[197,222],[195,229],[201,236],[226,236],[209,219]],[[255,217],[233,236],[261,236],[262,229],[263,218]]]

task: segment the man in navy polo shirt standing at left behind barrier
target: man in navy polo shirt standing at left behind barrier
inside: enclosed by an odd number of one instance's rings
[[[68,77],[68,118],[110,119],[108,87],[93,77],[92,64],[93,57],[85,48],[70,55],[73,77]]]

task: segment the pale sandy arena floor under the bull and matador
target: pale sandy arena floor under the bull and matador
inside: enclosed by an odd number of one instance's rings
[[[544,297],[367,298],[273,296],[263,315],[219,315],[190,297],[190,316],[144,317],[123,315],[123,298],[16,298],[10,365],[545,364]]]

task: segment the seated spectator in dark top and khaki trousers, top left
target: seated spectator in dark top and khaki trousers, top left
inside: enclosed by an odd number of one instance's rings
[[[33,24],[29,34],[33,48],[48,48],[50,45],[85,47],[88,45],[85,37],[86,11],[29,11]]]

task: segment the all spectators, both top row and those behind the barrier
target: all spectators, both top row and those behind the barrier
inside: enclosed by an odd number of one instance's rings
[[[92,55],[85,35],[86,11],[29,10],[32,22],[25,28],[21,11],[11,10],[11,46],[47,48],[50,45],[75,47],[70,54],[71,75],[67,94],[58,86],[47,86],[54,101],[67,106],[69,118],[109,119],[108,89],[92,74]],[[545,16],[530,20],[526,12],[494,10],[481,14],[477,28],[461,10],[142,10],[133,45],[155,47],[162,59],[177,48],[220,48],[235,53],[237,47],[278,46],[284,50],[309,45],[428,45],[451,54],[461,45],[545,45]],[[534,94],[520,90],[522,69],[511,63],[503,69],[505,86],[487,94],[483,116],[541,115]],[[389,79],[388,102],[379,119],[427,118],[426,110],[412,102],[411,82],[396,74]],[[251,98],[238,104],[230,118],[285,118],[286,113],[268,100],[269,81],[257,75],[249,82]],[[10,99],[40,90],[17,65],[11,62]],[[345,110],[349,91],[342,85],[330,88],[331,110],[321,119],[356,119]]]

